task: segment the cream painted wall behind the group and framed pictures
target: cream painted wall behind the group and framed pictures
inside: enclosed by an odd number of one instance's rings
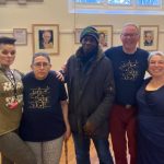
[[[73,30],[91,24],[113,25],[113,45],[119,45],[119,32],[126,22],[136,22],[139,25],[159,25],[160,42],[159,49],[164,51],[164,16],[157,15],[87,15],[70,14],[68,12],[68,0],[44,0],[44,2],[27,2],[26,5],[19,5],[9,1],[0,4],[0,35],[12,35],[13,28],[27,28],[27,46],[17,46],[16,61],[14,68],[27,72],[30,70],[33,42],[32,24],[59,24],[60,28],[60,54],[51,56],[54,69],[60,69],[62,63],[78,48],[74,45]]]

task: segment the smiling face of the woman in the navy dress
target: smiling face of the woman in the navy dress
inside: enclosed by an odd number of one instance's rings
[[[149,60],[149,73],[152,77],[164,75],[164,56],[154,55]]]

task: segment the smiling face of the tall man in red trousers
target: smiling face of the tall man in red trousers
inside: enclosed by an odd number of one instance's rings
[[[138,28],[134,25],[128,25],[122,28],[120,35],[124,48],[128,50],[134,50],[140,39]]]

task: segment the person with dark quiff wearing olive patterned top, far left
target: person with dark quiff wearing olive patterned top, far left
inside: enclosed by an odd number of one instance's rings
[[[35,155],[19,137],[22,116],[22,73],[11,69],[15,39],[0,37],[0,152],[2,164],[36,164]]]

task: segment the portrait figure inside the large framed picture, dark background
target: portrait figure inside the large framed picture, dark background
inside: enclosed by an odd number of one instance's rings
[[[42,38],[39,42],[39,49],[49,49],[52,48],[52,33],[48,30],[42,33]]]

